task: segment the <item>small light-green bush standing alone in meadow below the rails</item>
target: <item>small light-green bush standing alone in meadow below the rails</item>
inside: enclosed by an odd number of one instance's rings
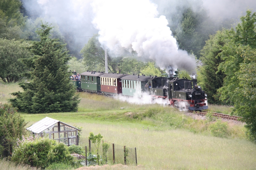
[[[213,123],[209,126],[209,129],[213,136],[226,137],[228,124],[227,122],[222,123],[221,119],[217,119],[216,123]]]

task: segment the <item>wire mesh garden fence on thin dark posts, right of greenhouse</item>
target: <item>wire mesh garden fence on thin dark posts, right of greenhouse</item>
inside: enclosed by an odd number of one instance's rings
[[[114,143],[105,142],[108,144],[107,149],[103,149],[102,143],[98,148],[98,154],[101,156],[101,162],[103,164],[123,164],[123,165],[137,165],[137,153],[136,148],[129,148],[127,146],[121,146]],[[87,153],[97,155],[97,144],[92,143],[88,138],[80,138],[79,145],[83,148],[86,147]]]

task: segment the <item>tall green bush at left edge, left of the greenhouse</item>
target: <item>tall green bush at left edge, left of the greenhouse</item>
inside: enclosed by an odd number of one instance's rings
[[[0,157],[12,154],[17,138],[21,139],[25,134],[26,124],[16,108],[7,103],[0,103]]]

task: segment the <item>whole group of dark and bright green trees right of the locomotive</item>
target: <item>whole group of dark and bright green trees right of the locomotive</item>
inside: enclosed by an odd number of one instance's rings
[[[256,140],[256,13],[246,11],[235,28],[222,29],[201,51],[201,86],[208,102],[234,106]]]

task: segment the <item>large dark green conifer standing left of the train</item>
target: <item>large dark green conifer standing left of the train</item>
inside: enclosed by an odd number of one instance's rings
[[[24,92],[14,92],[10,99],[14,107],[29,113],[74,112],[80,102],[75,88],[70,84],[67,61],[70,60],[66,44],[49,38],[52,27],[48,23],[37,30],[40,41],[35,41],[31,52],[34,56],[26,60],[32,81],[22,82]]]

